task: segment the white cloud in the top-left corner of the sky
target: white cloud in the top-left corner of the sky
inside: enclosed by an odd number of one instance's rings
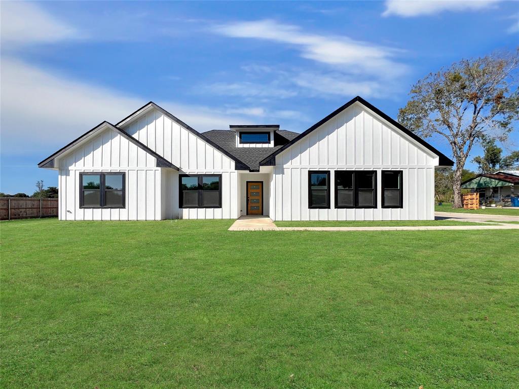
[[[79,33],[70,25],[57,20],[35,3],[0,3],[2,45],[54,43],[75,39]]]

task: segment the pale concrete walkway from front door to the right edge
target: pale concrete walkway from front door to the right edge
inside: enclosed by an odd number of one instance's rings
[[[444,212],[439,212],[444,213]],[[457,214],[456,216],[458,216]],[[483,215],[486,216],[486,215]],[[514,216],[512,216],[514,217]],[[488,224],[473,218],[449,218],[445,220],[476,221],[481,226],[380,226],[380,227],[277,227],[268,216],[241,216],[229,231],[429,231],[429,230],[519,230],[519,224]],[[489,219],[492,220],[492,219]],[[519,221],[519,220],[518,220]]]

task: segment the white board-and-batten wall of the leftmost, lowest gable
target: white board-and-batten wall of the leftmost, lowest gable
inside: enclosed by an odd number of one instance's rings
[[[61,220],[157,220],[166,214],[161,194],[166,169],[156,168],[155,157],[114,130],[92,135],[57,163]],[[79,174],[88,172],[126,173],[125,208],[80,208]]]

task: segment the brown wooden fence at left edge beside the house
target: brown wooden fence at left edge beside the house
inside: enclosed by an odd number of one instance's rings
[[[0,197],[0,220],[58,216],[58,199]]]

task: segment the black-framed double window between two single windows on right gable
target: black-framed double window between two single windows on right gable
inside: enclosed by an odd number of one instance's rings
[[[375,171],[335,171],[336,208],[376,208]]]

